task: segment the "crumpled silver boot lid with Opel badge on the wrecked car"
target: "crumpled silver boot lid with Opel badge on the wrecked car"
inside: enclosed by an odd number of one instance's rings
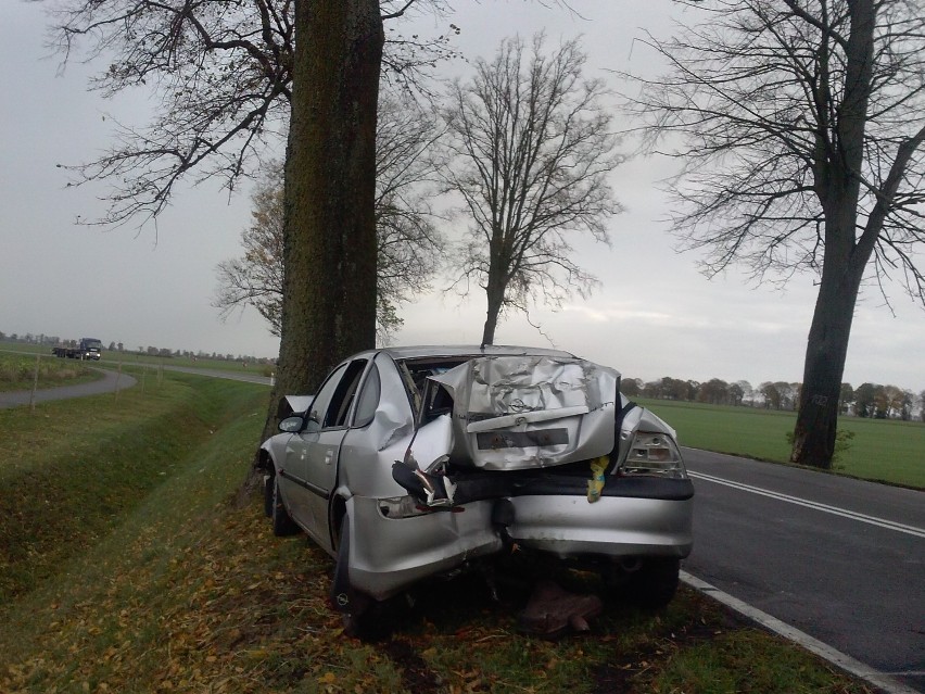
[[[485,356],[430,377],[453,398],[458,465],[517,470],[606,455],[620,375],[579,358]]]

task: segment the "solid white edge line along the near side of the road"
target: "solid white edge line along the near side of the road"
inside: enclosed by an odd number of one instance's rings
[[[681,572],[681,580],[687,583],[690,588],[709,595],[713,600],[719,603],[722,603],[726,607],[730,607],[737,611],[740,615],[744,615],[748,619],[758,622],[765,629],[773,631],[776,634],[784,636],[784,639],[788,639],[794,643],[799,644],[807,651],[814,653],[815,655],[825,658],[833,665],[841,668],[846,672],[850,672],[851,674],[859,677],[866,682],[870,682],[874,686],[882,689],[887,694],[918,694],[917,690],[914,690],[910,686],[907,686],[902,682],[898,682],[892,679],[890,674],[914,674],[910,672],[896,672],[886,674],[878,670],[875,670],[869,665],[864,665],[860,660],[856,660],[849,655],[841,653],[829,646],[826,643],[823,643],[816,639],[813,639],[808,633],[804,633],[797,629],[796,627],[791,627],[790,624],[781,621],[776,617],[772,617],[768,613],[763,613],[757,607],[752,607],[751,605],[742,602],[737,597],[733,597],[728,593],[724,593],[720,589],[706,581],[701,581],[695,576],[690,576],[686,571]]]

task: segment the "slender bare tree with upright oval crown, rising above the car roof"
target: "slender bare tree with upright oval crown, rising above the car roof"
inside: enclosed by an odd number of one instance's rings
[[[491,63],[476,62],[471,81],[453,84],[443,111],[446,190],[461,195],[471,224],[454,286],[485,290],[485,344],[506,310],[591,290],[595,278],[571,260],[570,238],[606,242],[605,222],[620,209],[607,182],[620,157],[604,85],[583,79],[578,41],[552,54],[544,42],[542,34],[530,49],[503,41]]]

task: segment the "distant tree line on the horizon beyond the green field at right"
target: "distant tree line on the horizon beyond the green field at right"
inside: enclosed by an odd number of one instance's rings
[[[621,392],[628,398],[651,398],[796,412],[802,383],[765,381],[752,388],[748,381],[728,383],[720,378],[699,382],[666,376],[654,381],[623,377]],[[841,383],[838,412],[842,415],[873,419],[911,420],[916,416],[925,421],[925,390],[916,396],[911,390],[897,386]]]

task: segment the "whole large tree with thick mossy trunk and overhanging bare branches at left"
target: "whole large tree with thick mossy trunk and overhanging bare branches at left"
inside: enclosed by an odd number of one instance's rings
[[[105,180],[102,223],[156,216],[178,181],[231,189],[288,124],[279,369],[264,428],[286,393],[312,392],[376,336],[376,113],[384,22],[443,0],[63,0],[60,46],[87,39],[110,61],[104,94],[149,85],[161,109],[73,169]],[[294,37],[299,36],[299,41]],[[392,75],[414,77],[445,37],[401,43]],[[419,51],[423,51],[422,53]],[[385,65],[390,64],[387,56]]]

